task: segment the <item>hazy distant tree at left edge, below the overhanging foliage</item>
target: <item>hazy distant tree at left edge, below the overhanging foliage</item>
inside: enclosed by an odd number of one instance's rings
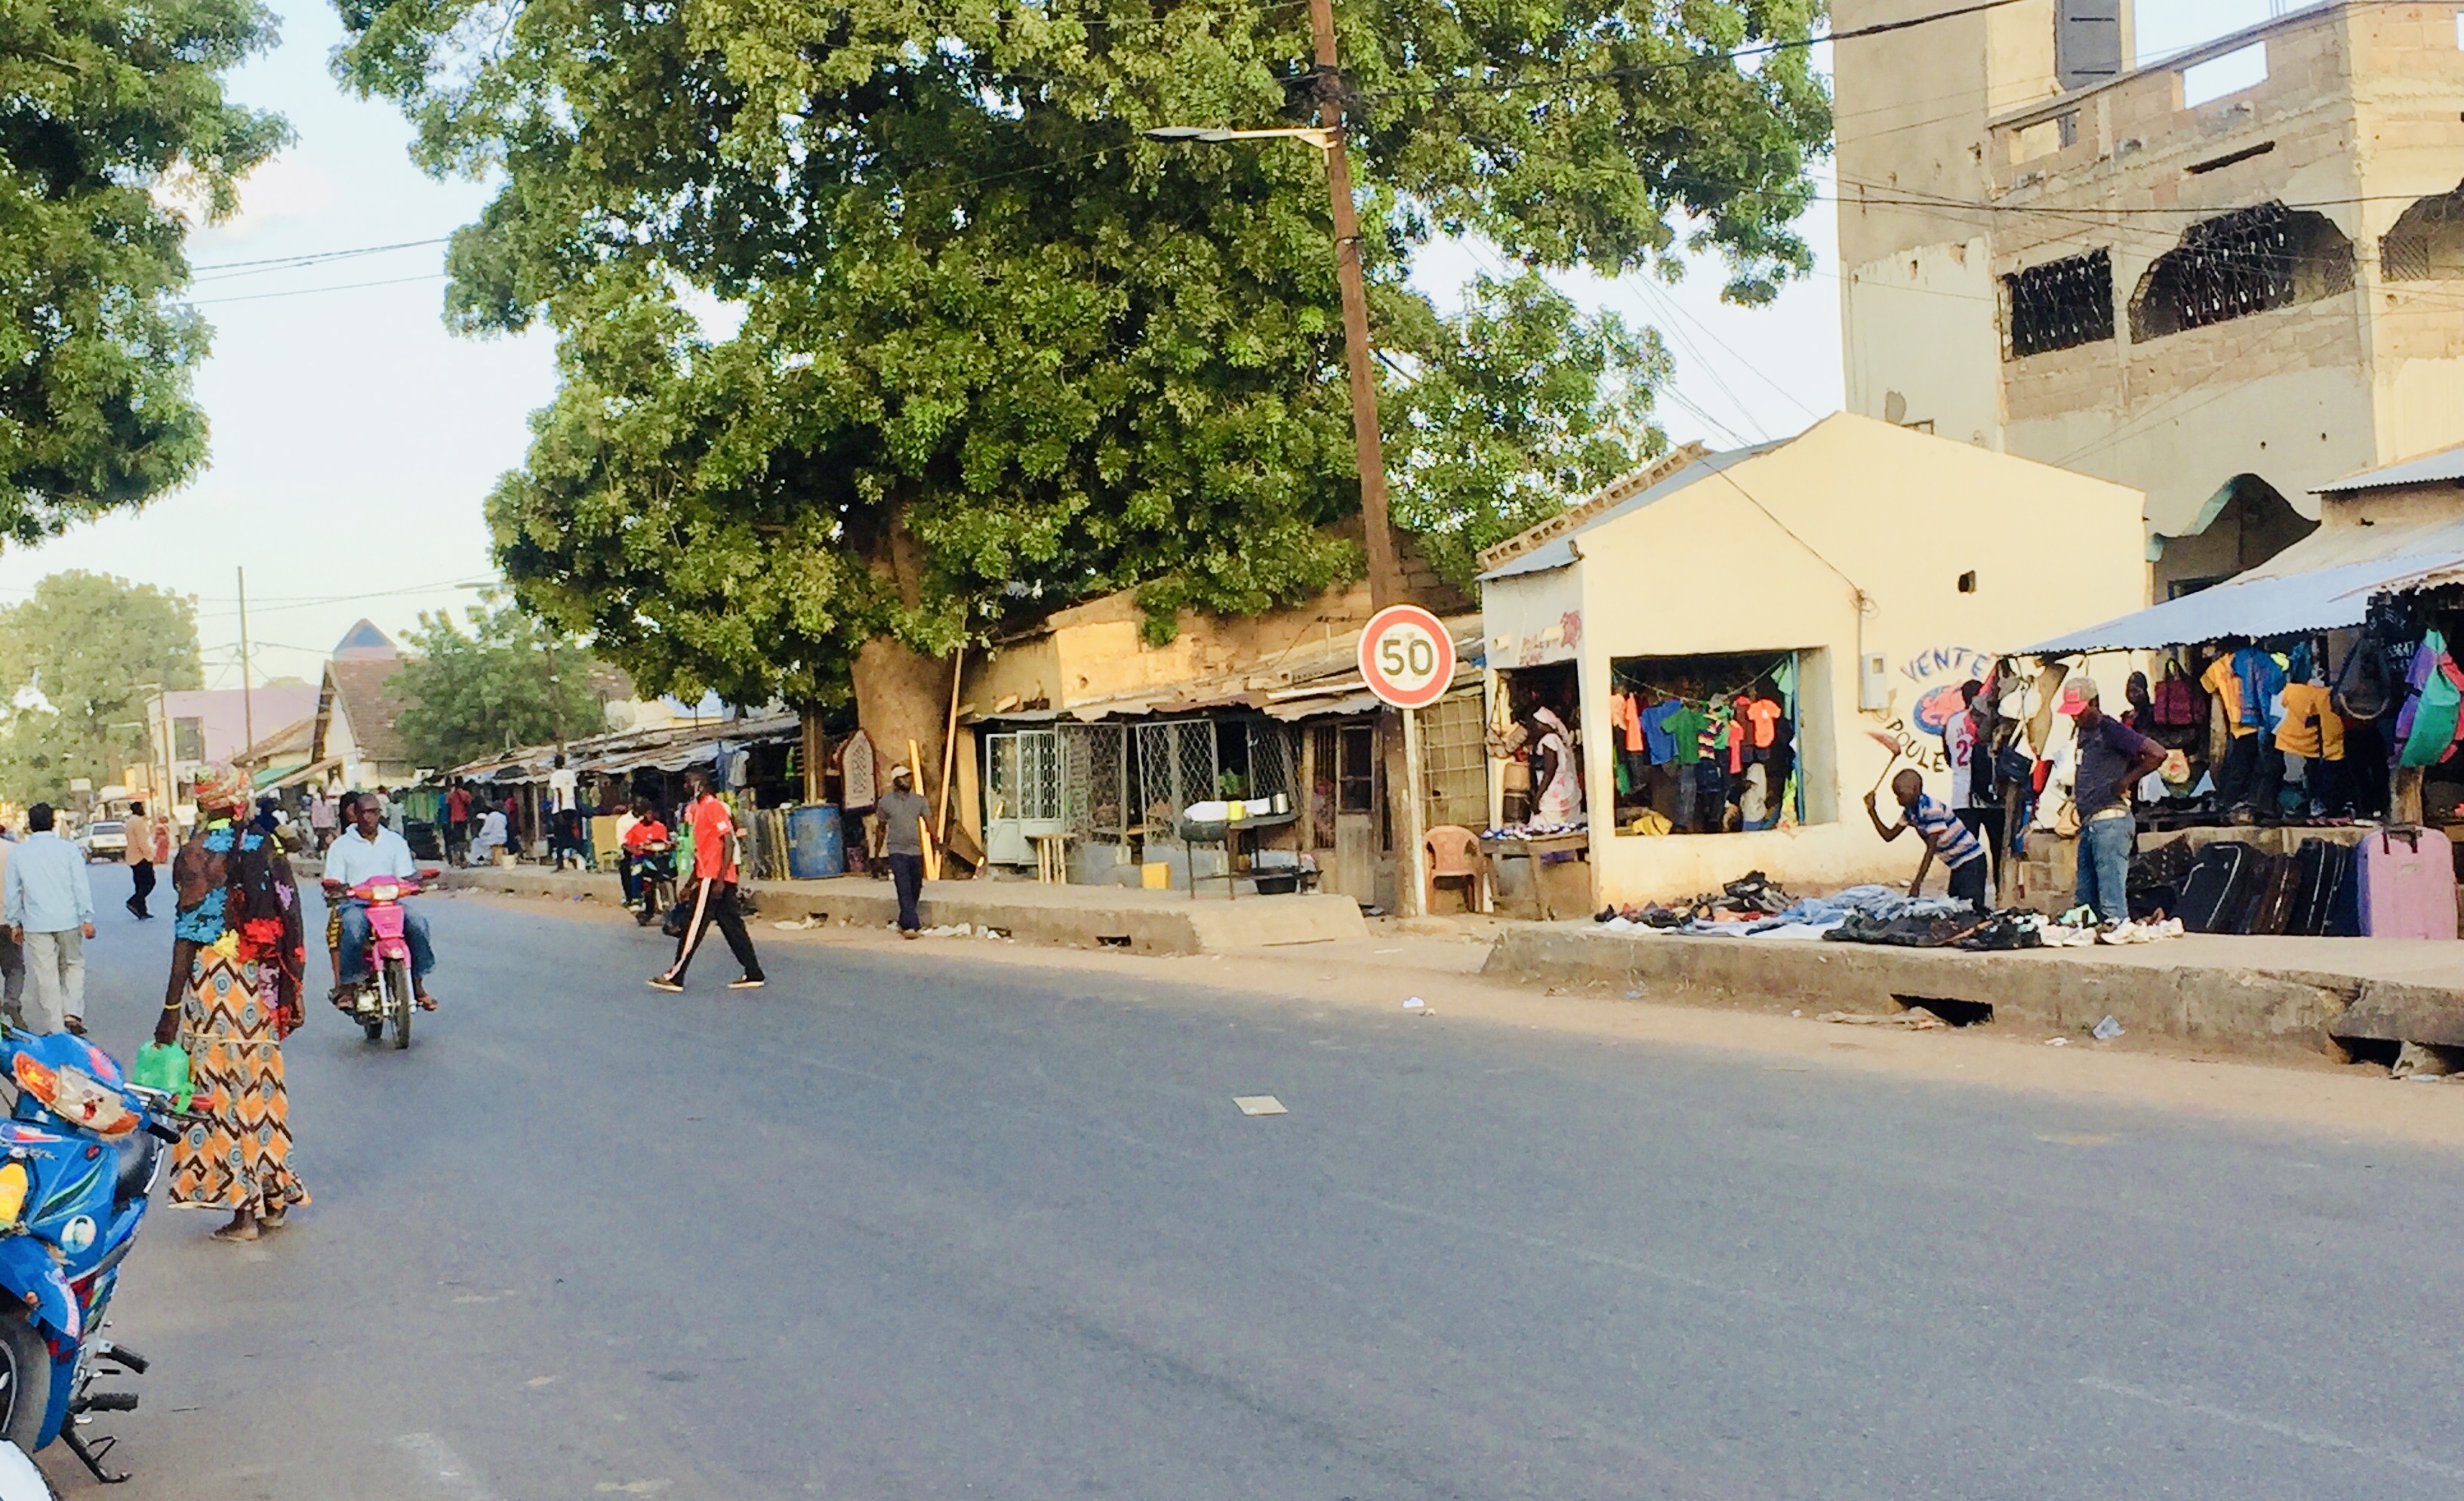
[[[67,801],[150,762],[155,688],[200,688],[197,601],[108,574],[64,572],[0,609],[0,796]]]

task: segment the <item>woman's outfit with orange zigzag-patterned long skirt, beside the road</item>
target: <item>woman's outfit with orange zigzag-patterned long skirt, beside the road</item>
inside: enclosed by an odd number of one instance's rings
[[[283,1033],[298,1023],[298,887],[291,863],[264,833],[214,823],[172,860],[180,892],[175,971],[187,959],[180,996],[180,1047],[200,1109],[172,1149],[170,1203],[217,1210],[288,1210],[308,1203],[291,1171],[291,1094],[283,1087]]]

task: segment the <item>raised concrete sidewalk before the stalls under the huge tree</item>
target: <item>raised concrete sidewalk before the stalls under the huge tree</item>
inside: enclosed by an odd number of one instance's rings
[[[515,897],[569,897],[616,907],[614,875],[513,870],[448,870],[446,890]],[[853,927],[897,922],[899,902],[887,880],[747,880],[744,895],[766,922],[821,919]],[[1133,954],[1232,954],[1284,944],[1318,944],[1368,934],[1350,897],[1237,897],[1143,892],[1129,887],[1035,885],[1023,880],[926,880],[917,905],[924,927],[998,929],[1027,944],[1114,944]]]

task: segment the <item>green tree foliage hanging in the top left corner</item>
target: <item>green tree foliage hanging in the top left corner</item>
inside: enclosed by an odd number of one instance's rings
[[[0,535],[49,537],[205,463],[182,244],[283,140],[222,94],[271,42],[249,0],[0,2]]]

